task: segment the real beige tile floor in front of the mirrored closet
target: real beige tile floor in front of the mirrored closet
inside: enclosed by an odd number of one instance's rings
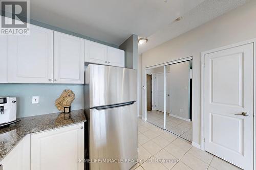
[[[131,169],[240,169],[216,156],[201,151],[178,136],[138,119],[138,158]]]

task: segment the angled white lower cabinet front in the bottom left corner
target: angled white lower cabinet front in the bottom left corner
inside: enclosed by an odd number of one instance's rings
[[[0,164],[3,170],[30,169],[30,135],[25,136]]]

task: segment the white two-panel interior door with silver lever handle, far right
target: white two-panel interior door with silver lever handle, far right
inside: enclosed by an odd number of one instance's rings
[[[204,55],[205,150],[253,166],[253,44]],[[247,112],[248,116],[236,115]]]

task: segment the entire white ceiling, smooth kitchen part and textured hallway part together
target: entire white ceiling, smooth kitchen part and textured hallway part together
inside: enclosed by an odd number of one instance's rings
[[[247,1],[30,0],[30,18],[118,46],[132,34],[146,37],[143,53]]]

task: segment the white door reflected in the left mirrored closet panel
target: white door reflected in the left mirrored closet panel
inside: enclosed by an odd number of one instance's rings
[[[155,74],[155,106],[156,110],[164,111],[164,75],[163,72]]]

